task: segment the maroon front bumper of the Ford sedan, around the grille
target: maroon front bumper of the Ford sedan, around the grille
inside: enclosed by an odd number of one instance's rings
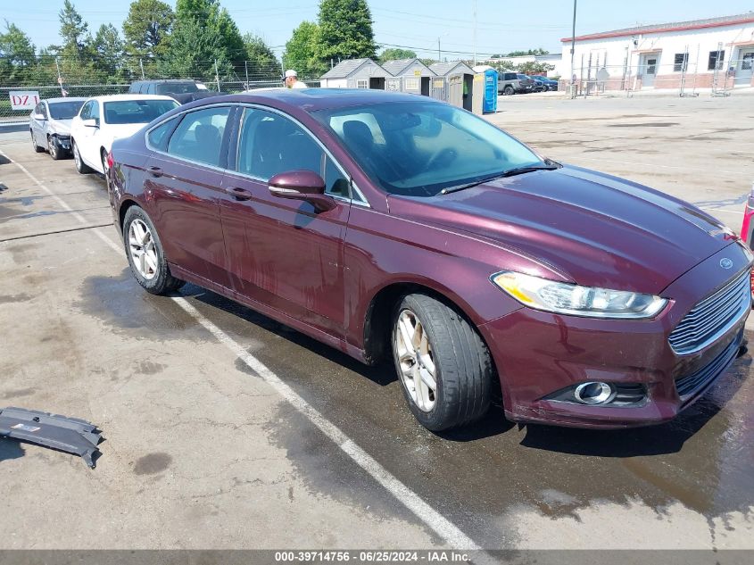
[[[733,260],[731,270],[720,267],[724,257]],[[506,417],[579,428],[628,428],[675,418],[733,363],[749,312],[696,353],[676,354],[667,338],[702,298],[749,267],[740,245],[728,245],[667,287],[661,295],[671,302],[653,320],[598,320],[521,308],[480,326],[500,374]],[[646,396],[624,406],[546,398],[588,381],[642,385]]]

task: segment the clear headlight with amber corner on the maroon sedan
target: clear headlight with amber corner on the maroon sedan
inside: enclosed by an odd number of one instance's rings
[[[526,306],[545,312],[556,312],[590,318],[652,318],[667,304],[667,299],[654,295],[579,287],[547,278],[503,271],[492,281]]]

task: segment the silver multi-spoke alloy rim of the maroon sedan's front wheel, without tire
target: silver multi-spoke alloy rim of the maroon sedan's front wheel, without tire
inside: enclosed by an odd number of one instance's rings
[[[403,386],[419,410],[432,411],[437,399],[437,380],[427,331],[418,316],[407,309],[398,316],[394,335]]]

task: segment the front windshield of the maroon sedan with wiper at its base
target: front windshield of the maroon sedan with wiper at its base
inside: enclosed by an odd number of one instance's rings
[[[543,164],[526,145],[448,104],[391,102],[312,115],[390,194],[434,196],[443,188]]]

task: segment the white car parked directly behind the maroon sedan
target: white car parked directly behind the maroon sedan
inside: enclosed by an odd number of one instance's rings
[[[170,96],[112,95],[89,98],[70,125],[76,170],[105,174],[112,141],[130,137],[150,121],[178,107]]]

